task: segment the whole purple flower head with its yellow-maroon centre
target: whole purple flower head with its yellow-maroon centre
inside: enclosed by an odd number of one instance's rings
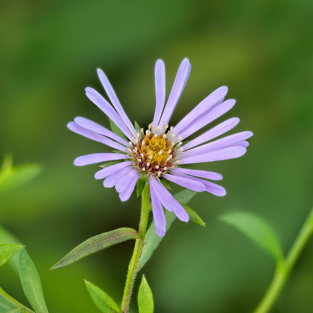
[[[230,118],[183,144],[183,140],[226,113],[235,104],[233,99],[224,101],[227,87],[220,87],[201,101],[175,127],[168,127],[177,101],[186,85],[190,69],[189,60],[184,59],[165,105],[165,67],[162,60],[157,60],[155,66],[156,109],[153,122],[145,132],[143,129],[135,130],[109,80],[103,71],[98,69],[100,81],[113,107],[90,87],[86,88],[86,95],[120,128],[129,141],[83,117],[76,117],[74,122],[68,124],[70,130],[121,152],[80,156],[74,164],[82,166],[106,161],[121,161],[96,172],[95,178],[104,179],[105,187],[115,186],[122,201],[130,198],[140,175],[147,177],[156,232],[160,237],[165,234],[166,223],[162,205],[168,211],[174,212],[180,220],[187,222],[189,219],[185,209],[173,198],[160,179],[167,179],[197,192],[206,191],[216,196],[224,196],[225,189],[211,182],[211,180],[222,179],[222,175],[184,168],[184,165],[242,156],[249,145],[246,139],[252,136],[252,132],[244,131],[212,141],[239,123],[239,118]]]

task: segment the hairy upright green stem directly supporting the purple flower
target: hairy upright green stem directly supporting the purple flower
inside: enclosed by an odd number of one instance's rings
[[[149,191],[149,184],[147,182],[141,193],[141,215],[140,215],[139,230],[138,230],[138,233],[141,238],[136,239],[134,252],[131,257],[129,266],[128,266],[128,273],[127,273],[126,284],[124,288],[124,295],[123,295],[123,300],[122,300],[122,305],[121,305],[121,310],[124,313],[128,313],[129,304],[131,301],[131,293],[132,293],[134,282],[135,282],[136,275],[138,272],[139,259],[142,254],[142,248],[144,245],[148,218],[149,218],[149,203],[150,203],[150,191]]]

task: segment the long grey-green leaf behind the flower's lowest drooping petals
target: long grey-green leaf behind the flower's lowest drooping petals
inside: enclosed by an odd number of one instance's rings
[[[188,203],[195,195],[197,192],[192,191],[190,189],[183,189],[180,192],[177,192],[174,195],[174,198],[183,204]],[[165,210],[165,219],[166,219],[166,231],[171,227],[172,223],[176,219],[176,215],[173,212],[169,212]],[[145,236],[145,245],[142,249],[142,254],[141,258],[139,260],[139,267],[138,270],[140,270],[146,262],[151,258],[151,255],[153,251],[158,247],[158,245],[161,243],[162,238],[160,238],[155,230],[154,227],[154,222],[150,224],[146,236]]]

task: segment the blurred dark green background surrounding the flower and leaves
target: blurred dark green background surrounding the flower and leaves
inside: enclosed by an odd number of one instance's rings
[[[1,1],[0,157],[38,163],[43,172],[0,198],[0,223],[27,246],[40,273],[50,312],[97,312],[87,279],[118,303],[132,242],[64,269],[48,271],[85,239],[118,227],[137,228],[139,200],[121,203],[95,181],[80,155],[109,151],[71,133],[84,116],[109,127],[84,94],[105,94],[108,75],[132,121],[147,126],[154,113],[154,64],[166,66],[167,95],[184,57],[192,71],[174,111],[175,125],[210,92],[227,85],[235,107],[213,123],[237,116],[235,131],[254,136],[240,159],[200,165],[223,174],[227,195],[198,194],[190,206],[202,228],[176,221],[140,274],[156,312],[251,312],[274,262],[218,221],[244,210],[265,218],[287,251],[313,204],[313,3],[311,1]],[[173,190],[179,188],[173,186]],[[313,240],[305,247],[273,312],[312,312]],[[8,266],[1,286],[27,304]],[[132,310],[136,312],[135,287]]]

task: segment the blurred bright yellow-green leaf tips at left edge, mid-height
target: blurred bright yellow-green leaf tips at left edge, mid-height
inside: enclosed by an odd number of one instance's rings
[[[41,172],[36,164],[26,164],[18,167],[12,166],[12,156],[4,157],[0,170],[0,192],[8,191],[25,184]]]

